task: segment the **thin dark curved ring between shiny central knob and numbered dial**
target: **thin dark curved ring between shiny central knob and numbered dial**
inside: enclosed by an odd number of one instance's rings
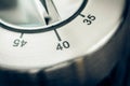
[[[39,33],[39,32],[51,31],[51,30],[57,29],[57,28],[60,28],[60,27],[62,27],[62,26],[70,23],[73,19],[75,19],[82,12],[82,10],[86,8],[87,3],[88,3],[88,0],[83,0],[81,6],[78,9],[78,11],[73,16],[70,16],[69,18],[61,22],[57,25],[50,26],[50,27],[47,27],[47,28],[39,28],[39,29],[34,29],[34,30],[26,30],[26,29],[17,29],[17,28],[8,26],[8,25],[2,24],[2,23],[0,23],[0,26],[2,28],[6,29],[6,30],[15,31],[15,32],[21,32],[21,33]]]

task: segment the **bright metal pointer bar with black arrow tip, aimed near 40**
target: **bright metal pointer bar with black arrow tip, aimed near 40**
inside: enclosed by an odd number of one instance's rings
[[[44,18],[47,25],[60,20],[61,17],[52,0],[36,0],[36,3],[39,6],[40,16]]]

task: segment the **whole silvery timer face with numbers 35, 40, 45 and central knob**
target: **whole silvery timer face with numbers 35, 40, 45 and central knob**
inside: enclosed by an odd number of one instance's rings
[[[0,67],[47,68],[109,41],[126,0],[0,0]]]

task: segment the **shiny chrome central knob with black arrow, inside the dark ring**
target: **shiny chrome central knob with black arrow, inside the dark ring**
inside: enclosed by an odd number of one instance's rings
[[[15,26],[48,26],[70,17],[82,2],[83,0],[0,0],[0,19]]]

